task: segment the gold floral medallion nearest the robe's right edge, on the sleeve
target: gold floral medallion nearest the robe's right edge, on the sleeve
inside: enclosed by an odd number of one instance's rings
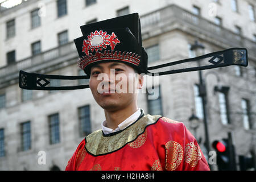
[[[191,167],[195,167],[198,161],[202,158],[200,148],[195,143],[190,142],[185,146],[185,162]]]

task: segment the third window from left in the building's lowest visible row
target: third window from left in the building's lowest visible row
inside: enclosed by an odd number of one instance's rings
[[[60,142],[59,114],[49,115],[49,142],[50,144]]]

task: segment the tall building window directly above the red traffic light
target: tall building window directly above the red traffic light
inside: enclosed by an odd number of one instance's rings
[[[220,117],[223,125],[228,125],[228,99],[227,92],[218,92],[218,104],[220,105]]]

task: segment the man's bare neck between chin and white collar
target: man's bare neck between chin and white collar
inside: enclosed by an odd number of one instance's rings
[[[124,109],[119,109],[115,111],[105,111],[105,117],[106,117],[106,127],[109,127],[110,129],[116,129],[118,125],[125,121],[125,119],[129,118],[130,115],[135,113],[135,111],[138,110],[137,105],[131,105],[128,107],[125,107]]]

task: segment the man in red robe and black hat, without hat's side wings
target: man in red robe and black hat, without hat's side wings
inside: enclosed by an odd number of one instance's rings
[[[122,28],[108,27],[113,22]],[[75,40],[79,67],[89,76],[106,119],[102,129],[82,140],[66,170],[209,170],[182,122],[138,108],[137,91],[147,67],[138,14],[81,29],[84,36]]]

